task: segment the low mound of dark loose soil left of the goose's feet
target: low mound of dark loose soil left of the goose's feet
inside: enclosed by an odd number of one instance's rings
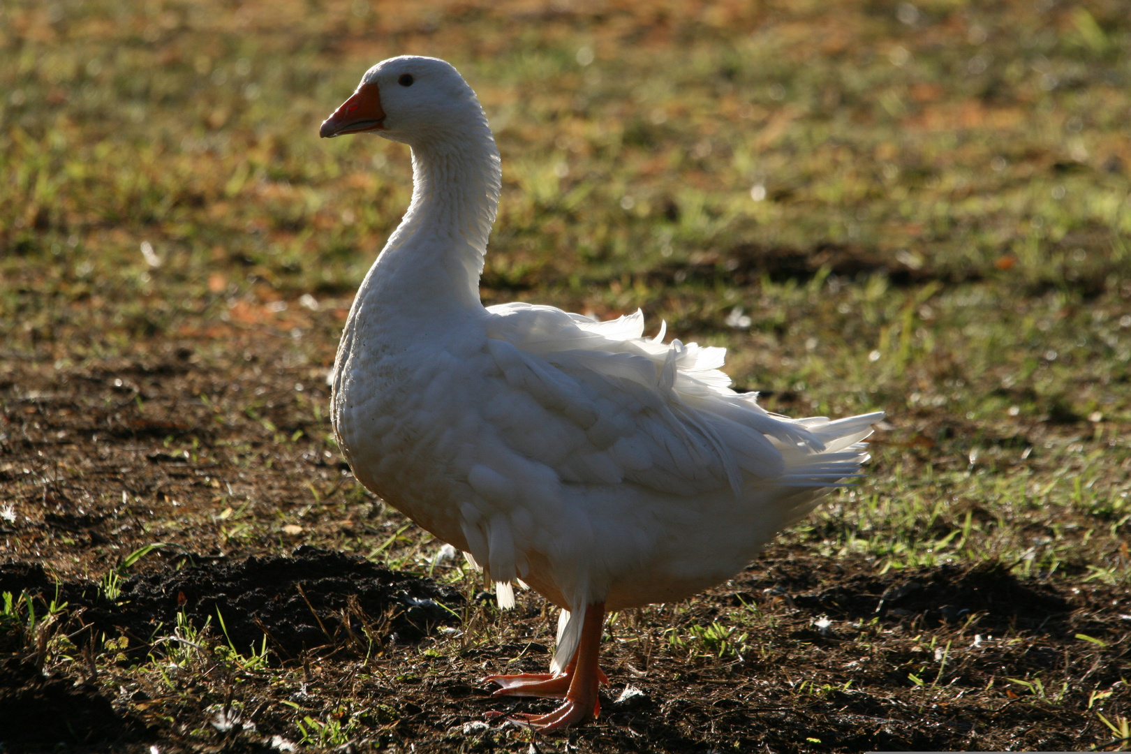
[[[5,563],[0,592],[67,603],[88,634],[126,636],[131,659],[144,658],[152,638],[179,622],[217,626],[239,652],[262,651],[266,638],[280,660],[359,641],[366,632],[382,641],[416,641],[439,625],[458,623],[464,603],[434,581],[309,546],[290,557],[228,563],[185,553],[176,561],[123,579],[113,599],[103,584],[57,582],[38,563]]]

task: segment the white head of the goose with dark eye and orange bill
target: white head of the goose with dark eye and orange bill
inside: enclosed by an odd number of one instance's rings
[[[333,138],[372,131],[409,146],[459,140],[486,122],[472,87],[448,62],[403,55],[373,66],[353,95],[322,122]]]

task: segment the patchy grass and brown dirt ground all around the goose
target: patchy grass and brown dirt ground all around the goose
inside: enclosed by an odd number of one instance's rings
[[[404,7],[402,7],[404,6]],[[411,7],[409,7],[411,6]],[[0,8],[5,751],[1108,749],[1131,717],[1131,6]],[[503,157],[482,293],[728,350],[873,461],[732,581],[608,622],[597,721],[360,487],[327,417],[452,61]]]

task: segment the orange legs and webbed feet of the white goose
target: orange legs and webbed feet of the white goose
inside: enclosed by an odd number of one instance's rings
[[[578,642],[573,658],[560,675],[524,673],[512,676],[489,676],[489,681],[502,686],[495,691],[495,695],[509,694],[566,700],[553,712],[516,714],[509,718],[512,722],[527,728],[553,730],[597,717],[597,712],[601,711],[597,687],[602,683],[608,683],[608,678],[597,667],[597,655],[601,651],[601,627],[604,621],[604,603],[594,603],[586,608],[585,623],[581,625],[581,640]]]

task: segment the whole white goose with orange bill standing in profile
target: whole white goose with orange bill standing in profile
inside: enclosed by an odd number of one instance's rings
[[[467,554],[513,605],[562,608],[549,674],[497,694],[564,699],[534,728],[596,717],[606,610],[684,599],[741,571],[867,460],[882,414],[767,413],[718,371],[725,349],[642,337],[551,306],[484,309],[478,281],[500,161],[450,64],[378,63],[322,123],[412,147],[413,199],[338,346],[333,421],[357,479]],[[512,718],[513,719],[513,718]]]

